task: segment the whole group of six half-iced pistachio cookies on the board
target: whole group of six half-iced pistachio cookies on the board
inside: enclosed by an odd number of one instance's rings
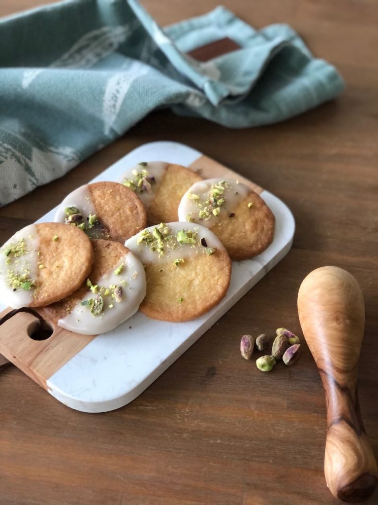
[[[0,298],[89,335],[138,310],[172,322],[201,316],[225,296],[231,260],[260,254],[274,235],[272,212],[248,186],[164,162],[78,188],[54,221],[0,249]]]

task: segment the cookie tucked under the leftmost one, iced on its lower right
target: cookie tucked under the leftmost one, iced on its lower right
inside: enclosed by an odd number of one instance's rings
[[[146,276],[127,247],[92,240],[94,261],[87,281],[72,295],[45,307],[57,325],[83,335],[112,330],[132,317],[146,294]]]

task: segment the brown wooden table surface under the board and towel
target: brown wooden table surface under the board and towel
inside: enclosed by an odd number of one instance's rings
[[[161,24],[219,0],[144,4]],[[39,2],[42,4],[43,2]],[[37,5],[3,0],[0,15]],[[349,270],[363,290],[359,396],[378,456],[378,5],[375,0],[225,0],[256,27],[287,22],[335,64],[346,90],[282,124],[229,130],[151,114],[67,176],[0,209],[0,243],[131,149],[174,140],[280,197],[296,220],[289,254],[144,393],[105,414],[71,410],[26,375],[0,372],[2,505],[329,505],[323,474],[326,409],[307,346],[292,367],[257,370],[244,333],[300,334],[299,285],[319,266]],[[378,492],[366,502],[378,503]]]

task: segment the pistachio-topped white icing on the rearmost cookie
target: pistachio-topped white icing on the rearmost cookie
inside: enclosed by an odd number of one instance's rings
[[[142,162],[142,164],[124,172],[118,182],[126,183],[126,186],[133,189],[142,200],[145,208],[148,209],[155,198],[168,165],[169,163],[162,161]],[[145,179],[142,180],[143,178]],[[140,186],[138,186],[138,182]]]

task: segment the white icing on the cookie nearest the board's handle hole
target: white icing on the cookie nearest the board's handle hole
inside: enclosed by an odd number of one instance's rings
[[[123,267],[121,272],[116,275],[114,272],[120,265]],[[83,335],[106,333],[131,318],[138,311],[146,296],[144,268],[133,252],[127,252],[117,266],[106,272],[97,284],[106,289],[114,285],[120,286],[122,288],[121,300],[117,302],[111,295],[103,296],[104,310],[101,315],[94,316],[89,306],[82,305],[83,301],[96,297],[96,294],[88,291],[88,294],[75,305],[70,314],[58,320],[58,326]],[[109,308],[109,305],[112,307]]]

